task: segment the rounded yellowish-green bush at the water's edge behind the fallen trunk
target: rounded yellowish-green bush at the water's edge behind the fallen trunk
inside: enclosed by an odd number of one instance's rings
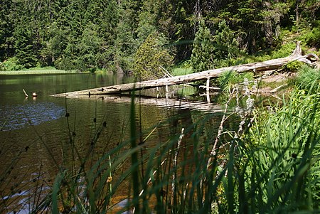
[[[152,33],[138,48],[134,57],[134,76],[139,80],[151,80],[164,77],[162,67],[173,65],[171,50],[166,48],[166,38],[159,33]]]

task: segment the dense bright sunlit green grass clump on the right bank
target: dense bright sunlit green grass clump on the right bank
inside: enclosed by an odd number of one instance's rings
[[[240,193],[247,189],[243,205],[262,213],[319,210],[319,125],[319,96],[294,91],[289,102],[250,128],[256,148],[239,148],[247,159],[238,171],[240,182],[248,177],[239,183]]]

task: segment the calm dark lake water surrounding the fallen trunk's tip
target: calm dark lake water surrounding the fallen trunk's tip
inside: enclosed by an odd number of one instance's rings
[[[62,151],[70,135],[76,137],[80,156],[86,154],[102,124],[106,128],[100,134],[97,154],[129,139],[129,97],[66,100],[50,95],[125,82],[132,78],[91,73],[0,75],[0,213],[32,209],[33,196],[40,187],[43,191],[50,186],[66,159]],[[31,97],[33,91],[38,97]],[[206,102],[142,97],[137,103],[137,119],[144,134],[161,123],[148,138],[150,145],[166,141],[201,118],[206,117],[210,129],[218,129],[220,124],[220,107]]]

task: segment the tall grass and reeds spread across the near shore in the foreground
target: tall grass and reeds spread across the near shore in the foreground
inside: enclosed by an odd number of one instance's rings
[[[230,95],[226,108],[232,97],[244,96]],[[206,114],[190,127],[180,124],[150,147],[141,136],[149,136],[159,124],[137,132],[139,114],[132,99],[129,139],[105,149],[97,159],[95,145],[107,123],[94,120],[85,156],[70,125],[65,162],[57,163],[50,193],[31,211],[109,213],[117,189],[129,181],[128,203],[116,213],[318,213],[319,101],[318,88],[294,90],[281,107],[238,107],[238,129],[229,130],[230,115],[219,113],[222,119],[215,130],[208,126],[213,115]]]

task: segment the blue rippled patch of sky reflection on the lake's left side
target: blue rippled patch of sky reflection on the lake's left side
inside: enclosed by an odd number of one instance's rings
[[[1,131],[8,131],[59,119],[65,114],[65,108],[53,102],[33,102],[16,106],[0,106],[0,112]]]

